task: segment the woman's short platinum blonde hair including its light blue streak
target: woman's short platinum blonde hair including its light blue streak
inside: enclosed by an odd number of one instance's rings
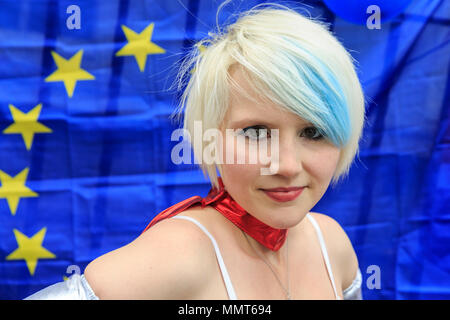
[[[176,115],[184,111],[184,129],[191,138],[194,121],[202,121],[203,130],[219,128],[229,86],[237,86],[229,69],[238,64],[259,96],[310,121],[341,149],[331,181],[336,184],[359,151],[364,123],[364,95],[354,60],[323,22],[285,6],[263,5],[241,13],[225,32],[209,33],[192,48],[177,77],[178,88],[185,89]],[[204,147],[193,146],[197,159]],[[220,167],[200,166],[218,186]]]

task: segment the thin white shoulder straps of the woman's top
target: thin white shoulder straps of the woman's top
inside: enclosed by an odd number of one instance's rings
[[[314,229],[316,230],[317,237],[319,239],[320,249],[322,251],[323,260],[325,262],[325,266],[327,268],[328,276],[331,281],[331,285],[333,286],[333,291],[336,296],[337,300],[340,300],[341,297],[338,295],[336,290],[336,283],[334,281],[333,271],[331,269],[330,259],[328,257],[327,248],[325,245],[325,241],[323,239],[322,231],[320,230],[319,224],[316,222],[316,220],[308,213],[306,215],[313,225]],[[188,220],[196,224],[211,240],[214,250],[216,252],[217,262],[219,263],[220,271],[222,273],[222,278],[225,283],[225,287],[227,289],[228,298],[230,300],[237,300],[236,291],[234,290],[233,283],[231,282],[230,275],[228,274],[227,267],[225,265],[225,262],[223,261],[222,254],[220,253],[219,246],[217,245],[216,239],[211,235],[211,233],[196,219],[187,217],[187,216],[181,216],[177,215],[172,217],[171,219],[183,219]],[[355,279],[353,280],[353,283],[343,291],[344,300],[360,300],[362,299],[361,295],[361,272],[358,269],[358,272],[356,274]]]

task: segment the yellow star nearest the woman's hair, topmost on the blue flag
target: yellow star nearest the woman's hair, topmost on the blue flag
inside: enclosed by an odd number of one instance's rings
[[[125,33],[128,43],[116,53],[116,56],[134,56],[139,65],[139,70],[143,72],[147,55],[166,52],[166,50],[151,42],[153,27],[154,23],[151,23],[144,31],[136,33],[127,26],[122,25],[122,30]]]

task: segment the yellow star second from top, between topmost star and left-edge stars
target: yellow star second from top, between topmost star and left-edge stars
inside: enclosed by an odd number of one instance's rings
[[[83,50],[75,53],[69,60],[64,59],[55,51],[52,51],[53,60],[55,60],[56,69],[51,75],[45,78],[46,82],[63,81],[66,87],[67,95],[72,98],[75,85],[79,80],[94,80],[95,77],[81,69],[81,58],[83,56]]]

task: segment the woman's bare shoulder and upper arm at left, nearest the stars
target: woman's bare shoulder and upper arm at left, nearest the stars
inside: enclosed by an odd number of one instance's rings
[[[84,274],[100,299],[186,299],[204,289],[215,263],[206,234],[166,219],[92,261]]]

